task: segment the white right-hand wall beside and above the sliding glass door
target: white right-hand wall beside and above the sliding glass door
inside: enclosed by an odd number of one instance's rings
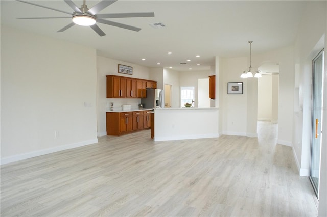
[[[298,97],[298,104],[294,105],[293,151],[299,173],[303,176],[309,175],[310,166],[312,60],[325,47],[325,7],[326,2],[307,4],[294,48],[297,66],[294,96]]]

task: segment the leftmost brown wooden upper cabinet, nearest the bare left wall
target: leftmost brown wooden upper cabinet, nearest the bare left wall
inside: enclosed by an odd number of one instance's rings
[[[126,77],[107,75],[107,98],[126,98]]]

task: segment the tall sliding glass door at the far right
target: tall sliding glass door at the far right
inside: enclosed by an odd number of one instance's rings
[[[318,197],[321,150],[321,121],[323,100],[323,55],[322,50],[313,60],[312,74],[312,127],[310,180]]]

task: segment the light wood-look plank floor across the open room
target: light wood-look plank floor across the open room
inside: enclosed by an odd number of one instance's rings
[[[276,124],[153,142],[145,130],[1,167],[1,216],[317,216]]]

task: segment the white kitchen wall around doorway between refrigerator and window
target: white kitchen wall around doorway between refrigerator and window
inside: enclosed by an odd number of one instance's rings
[[[164,69],[164,83],[172,86],[171,89],[171,107],[178,108],[179,107],[179,74],[177,71],[171,69]]]

